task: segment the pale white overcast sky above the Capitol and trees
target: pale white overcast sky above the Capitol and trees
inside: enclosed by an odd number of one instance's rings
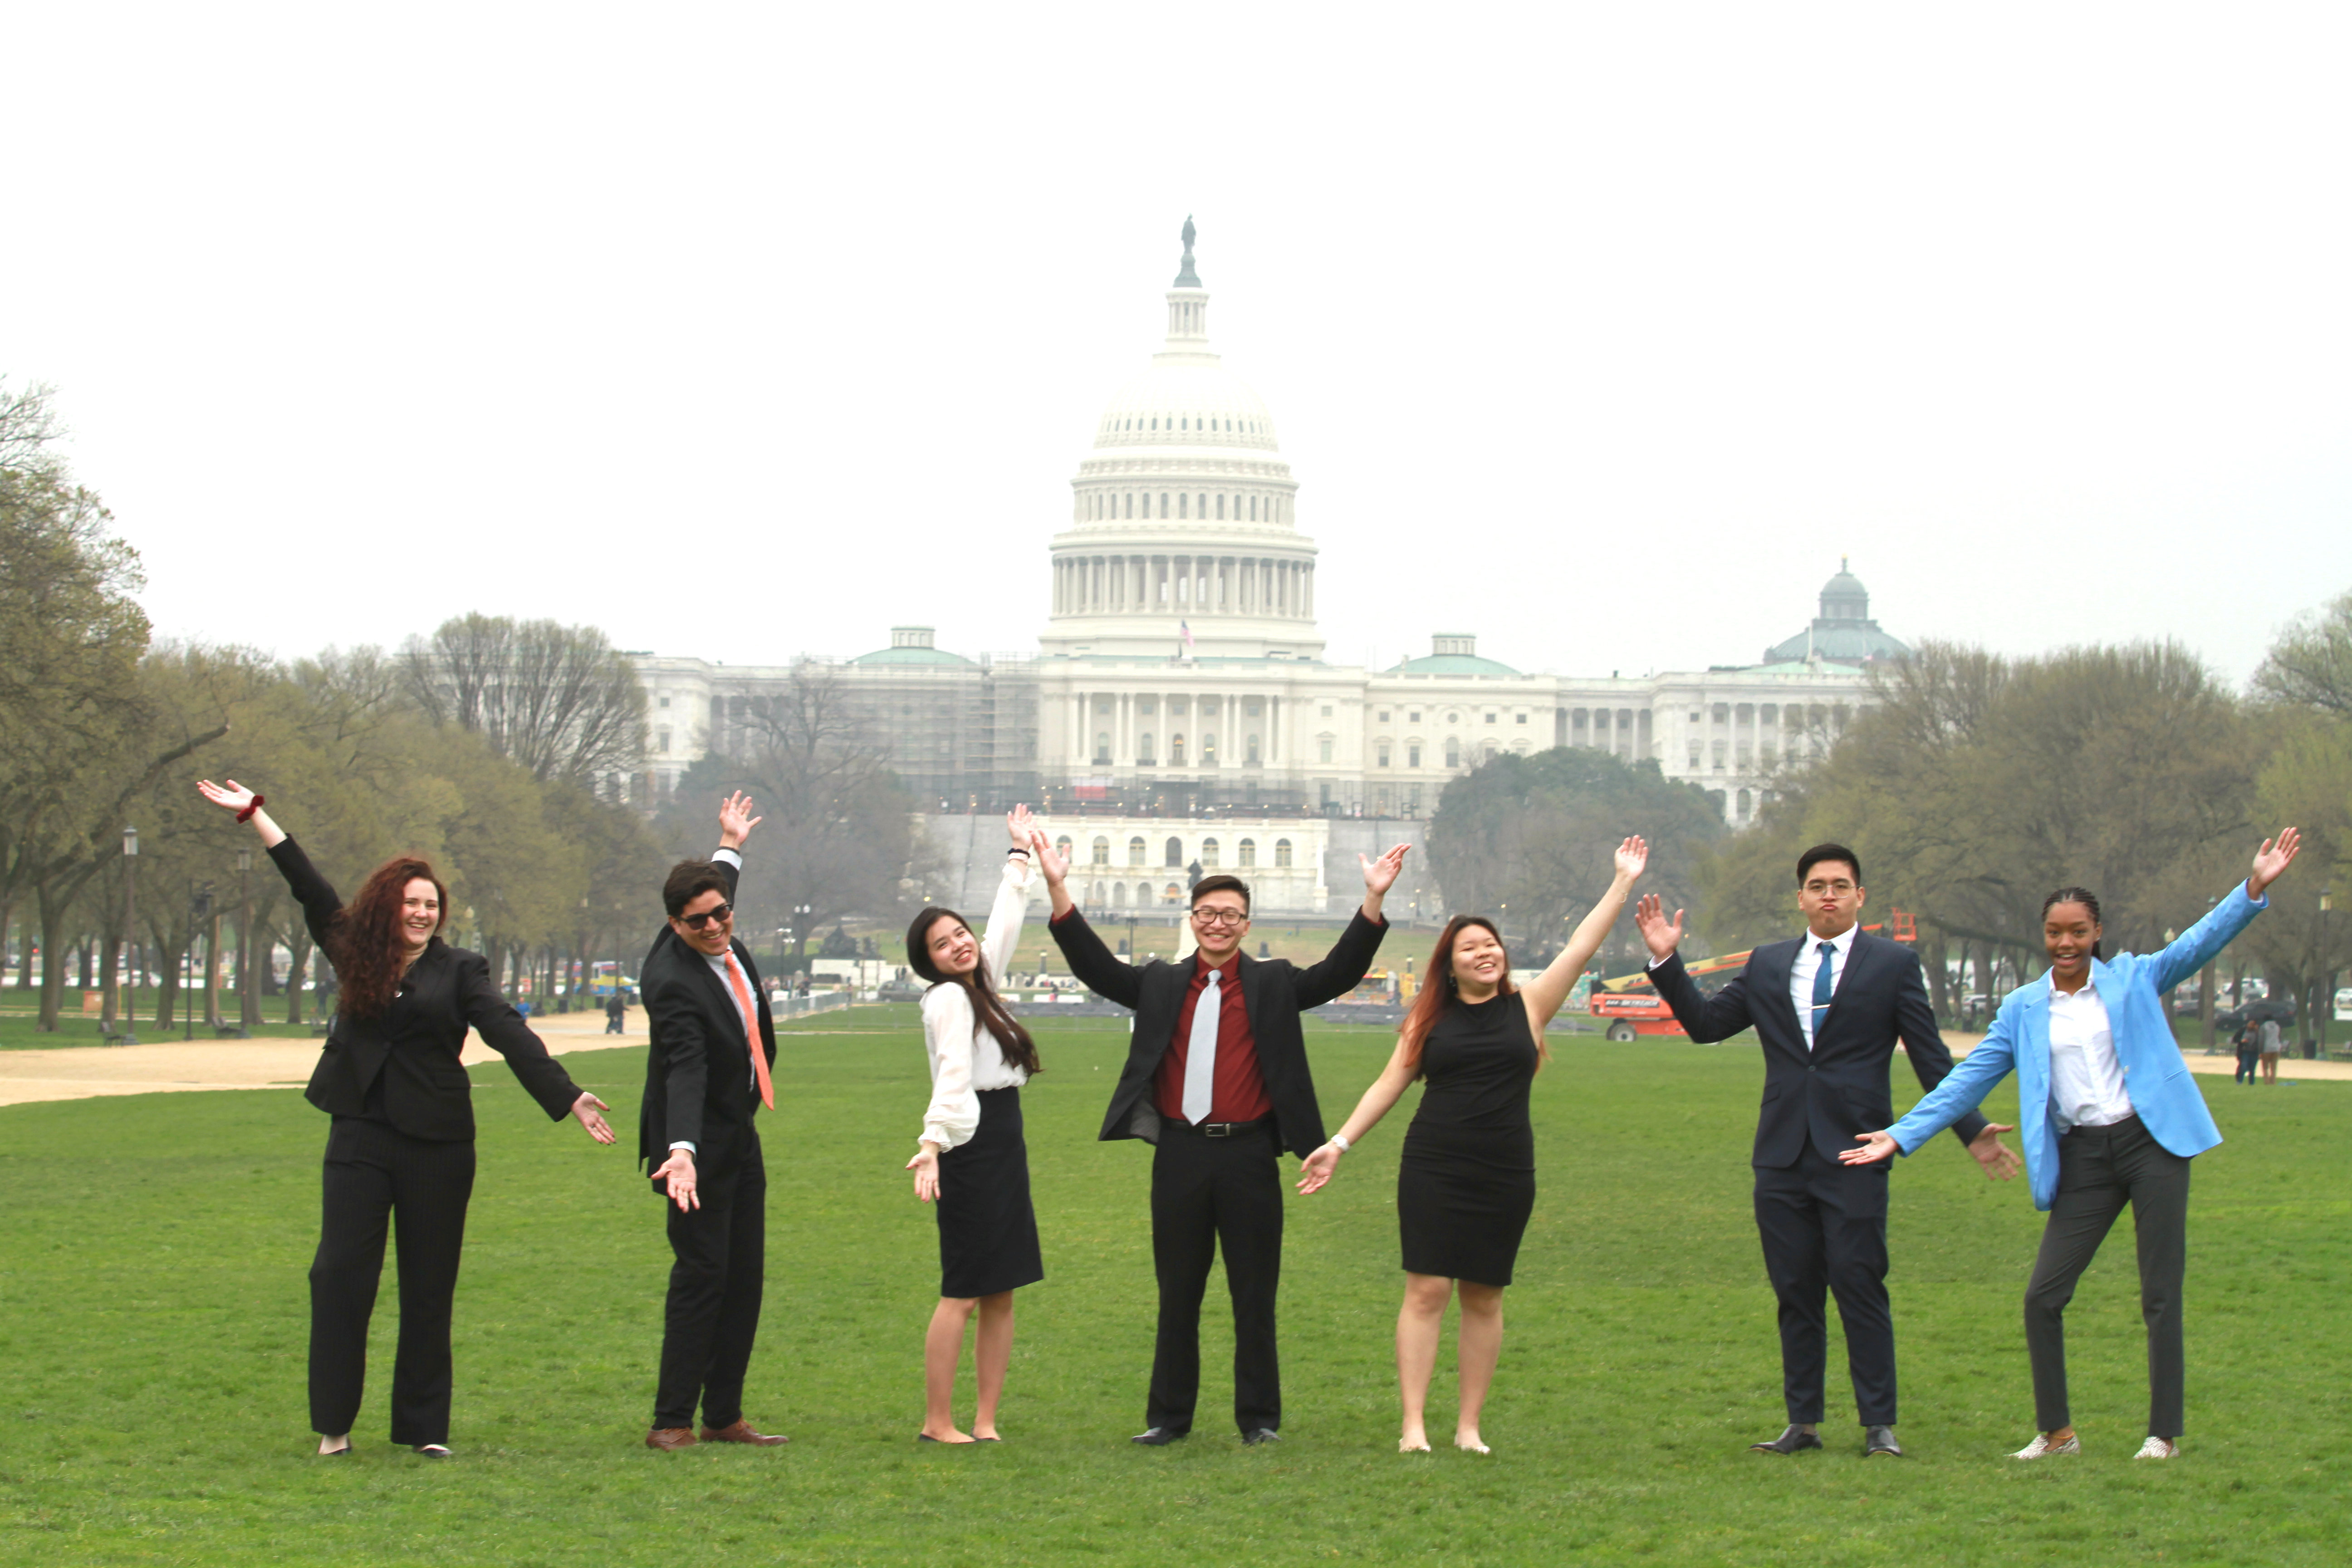
[[[0,371],[174,637],[1023,651],[1176,230],[1327,656],[2352,588],[2352,9],[21,7]]]

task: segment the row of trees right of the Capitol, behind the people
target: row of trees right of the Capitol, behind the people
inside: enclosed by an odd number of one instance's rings
[[[1863,858],[1865,922],[1917,922],[1936,1009],[1957,1016],[1947,969],[1983,994],[1997,966],[2042,971],[2051,889],[2089,886],[2107,950],[2147,952],[2293,823],[2319,875],[2279,889],[2225,964],[2293,997],[2310,1039],[2352,966],[2352,919],[2321,898],[2352,896],[2352,592],[2286,628],[2249,691],[2176,642],[2034,658],[1931,642],[1872,672],[1867,710],[1828,757],[1783,766],[1755,825],[1726,835],[1693,797],[1705,802],[1651,762],[1496,757],[1446,785],[1430,863],[1449,905],[1508,903],[1505,924],[1552,931],[1606,884],[1604,844],[1644,832],[1668,905],[1686,903],[1700,938],[1733,952],[1792,931],[1797,853],[1842,842]]]

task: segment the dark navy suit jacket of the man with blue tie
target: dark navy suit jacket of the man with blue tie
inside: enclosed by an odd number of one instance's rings
[[[1748,954],[1748,969],[1712,997],[1691,983],[1679,952],[1649,971],[1691,1039],[1729,1039],[1752,1027],[1764,1041],[1764,1110],[1757,1117],[1752,1164],[1773,1171],[1797,1164],[1806,1138],[1835,1159],[1860,1147],[1853,1143],[1856,1133],[1893,1126],[1886,1063],[1896,1053],[1898,1034],[1922,1091],[1952,1072],[1952,1053],[1943,1048],[1936,1009],[1926,1001],[1919,954],[1867,931],[1853,933],[1837,992],[1830,997],[1830,1016],[1806,1051],[1804,1025],[1788,994],[1797,947],[1806,940],[1816,938],[1757,947]],[[1971,1143],[1980,1131],[1985,1119],[1976,1112],[1952,1124],[1962,1143]]]

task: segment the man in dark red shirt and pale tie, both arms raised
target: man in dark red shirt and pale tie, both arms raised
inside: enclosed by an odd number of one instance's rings
[[[1305,1159],[1324,1140],[1298,1013],[1345,997],[1371,969],[1388,922],[1381,900],[1404,867],[1397,844],[1364,867],[1364,905],[1310,969],[1251,959],[1249,884],[1204,877],[1192,889],[1192,940],[1176,964],[1141,969],[1112,957],[1070,900],[1070,865],[1033,839],[1054,896],[1054,943],[1087,990],[1136,1011],[1127,1067],[1103,1117],[1103,1140],[1143,1138],[1152,1150],[1152,1267],[1160,1335],[1143,1432],[1150,1448],[1192,1432],[1200,1399],[1200,1300],[1225,1253],[1232,1295],[1232,1420],[1244,1443],[1282,1434],[1275,1288],[1282,1279],[1279,1154]]]

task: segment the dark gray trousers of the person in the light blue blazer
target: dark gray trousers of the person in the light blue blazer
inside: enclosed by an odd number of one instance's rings
[[[2180,1276],[2187,1267],[2190,1161],[2157,1143],[2138,1117],[2077,1126],[2058,1140],[2058,1197],[2025,1286],[2025,1354],[2034,1366],[2034,1427],[2070,1427],[2065,1305],[2114,1218],[2131,1204],[2140,1244],[2140,1316],[2147,1321],[2147,1432],[2180,1436]]]

